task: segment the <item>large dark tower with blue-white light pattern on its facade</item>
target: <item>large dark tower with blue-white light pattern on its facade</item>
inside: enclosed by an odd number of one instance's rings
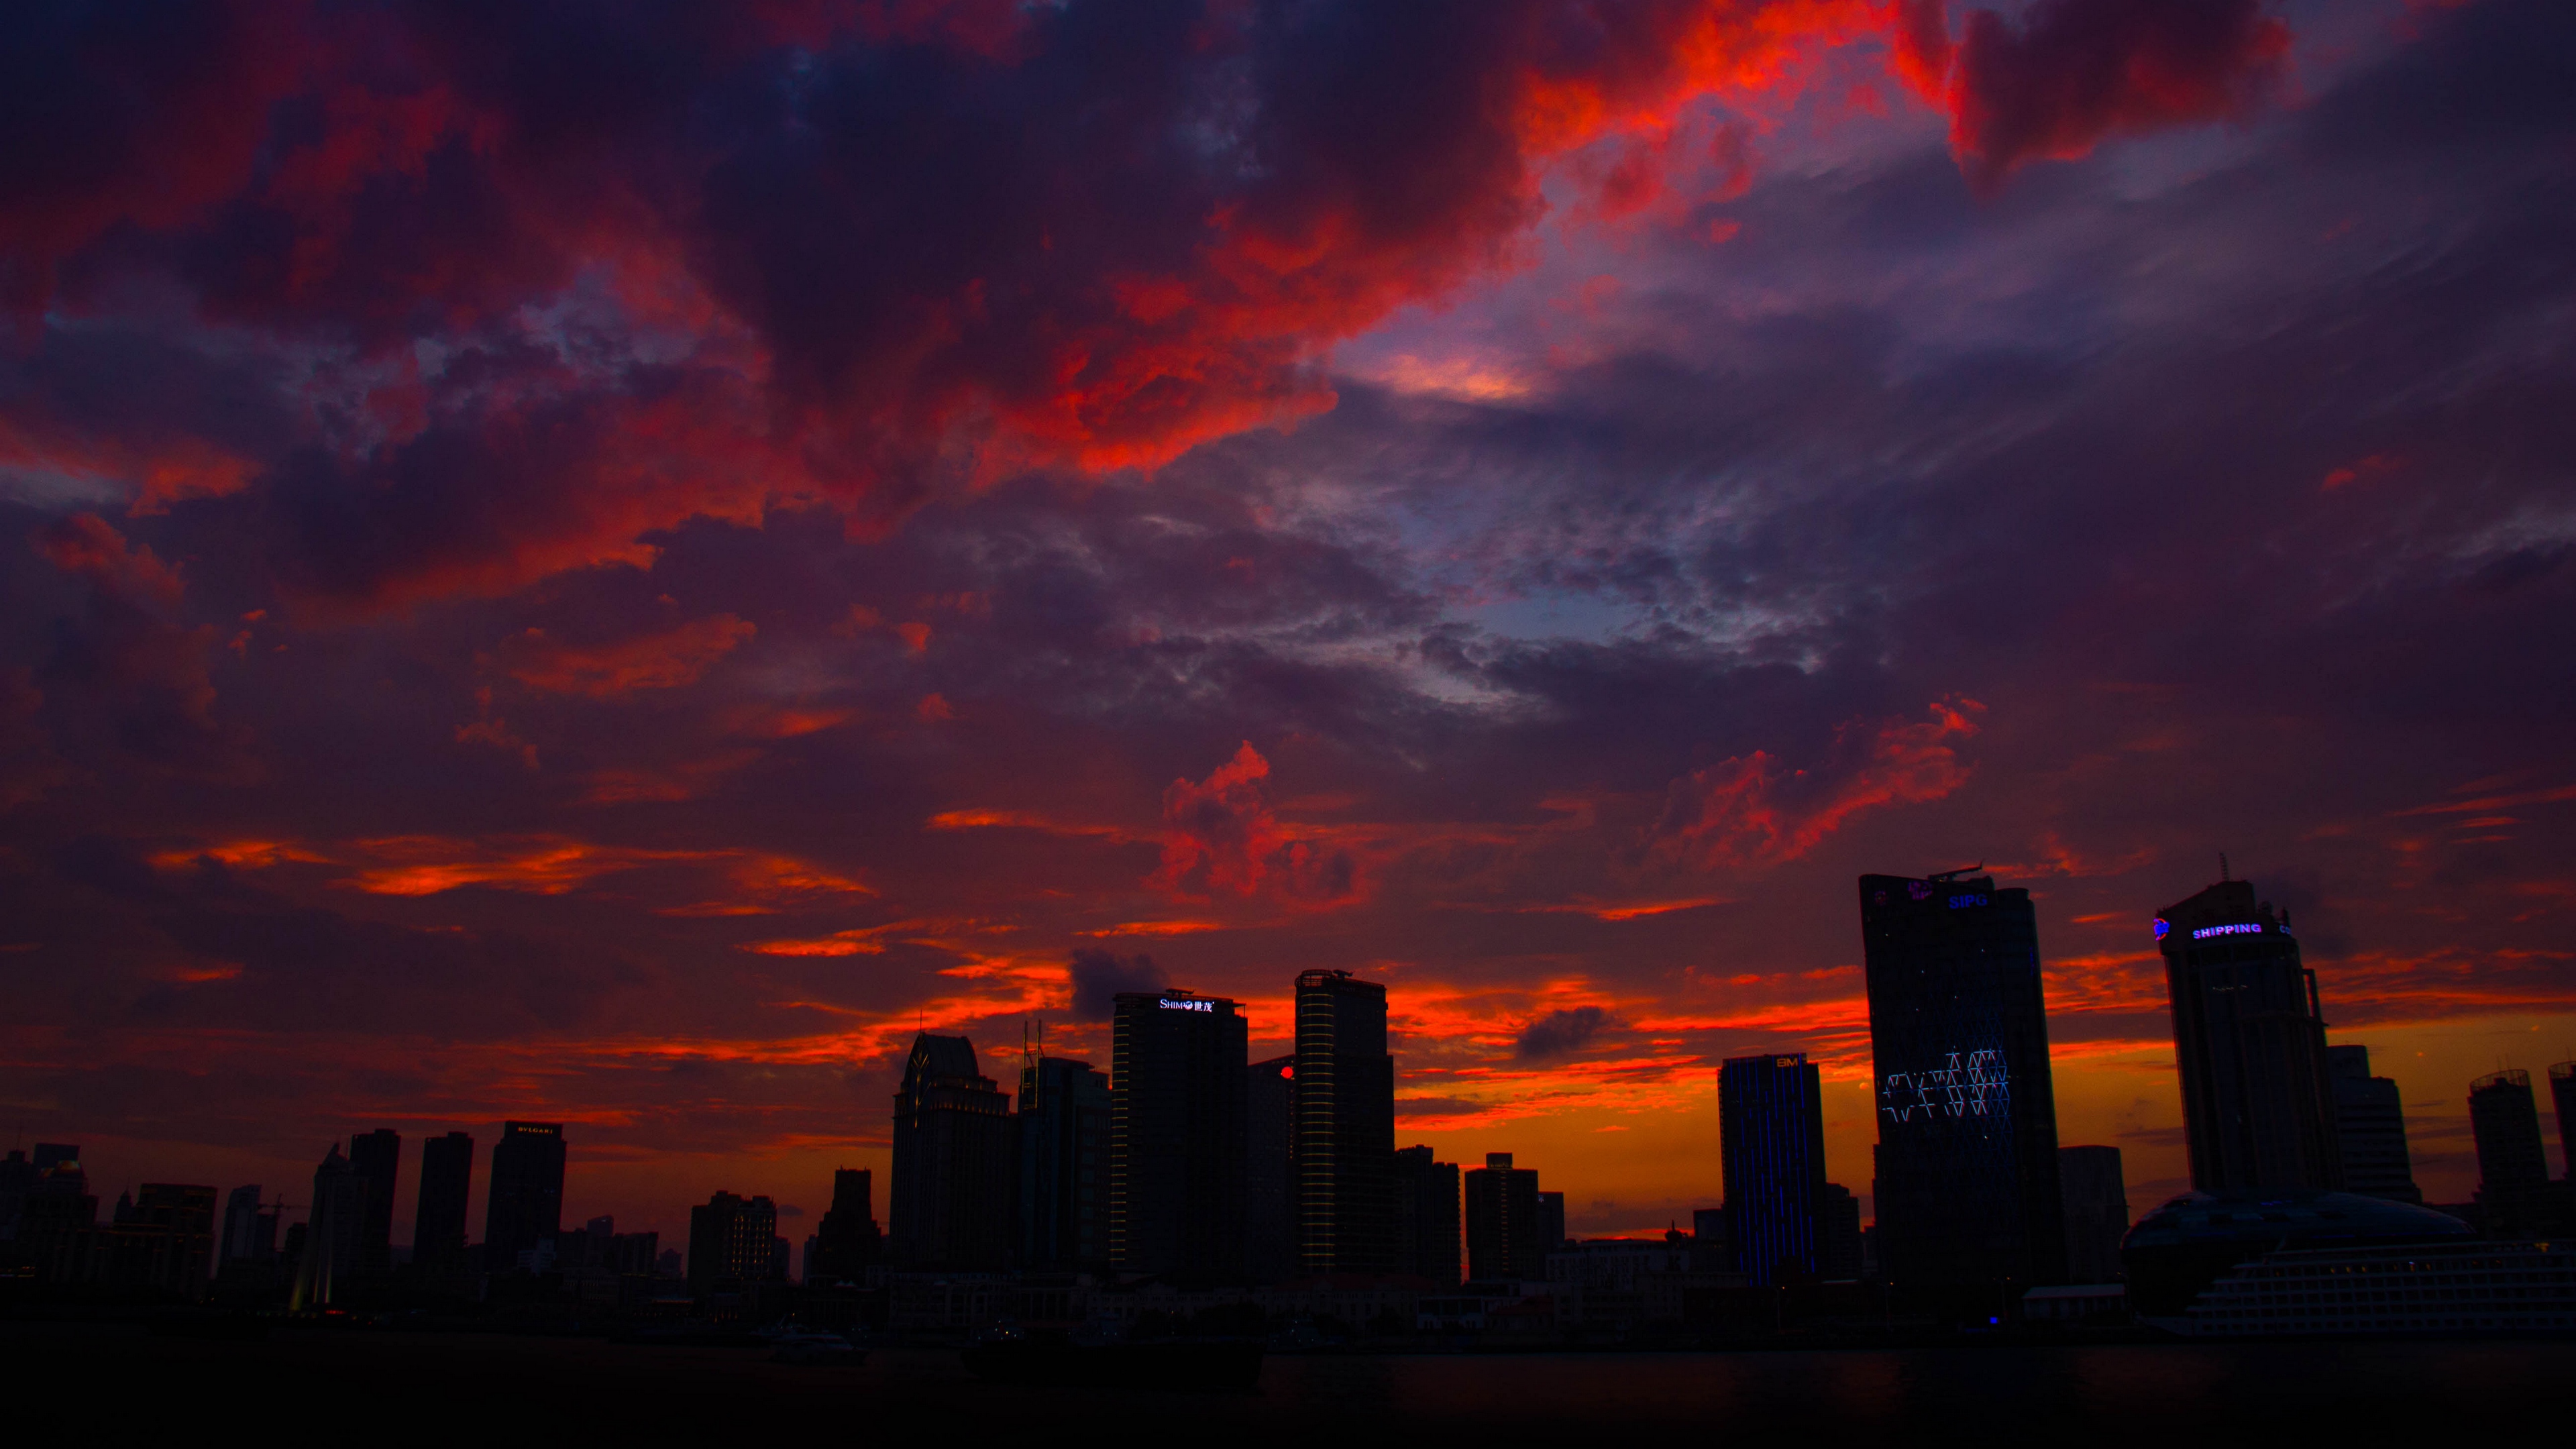
[[[1860,877],[1878,1075],[1878,1253],[1899,1284],[2066,1271],[2058,1104],[2027,890]]]

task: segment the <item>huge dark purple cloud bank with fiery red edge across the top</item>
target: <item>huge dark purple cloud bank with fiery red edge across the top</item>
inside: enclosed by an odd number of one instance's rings
[[[1674,139],[1705,98],[1793,90],[1829,46],[1947,75],[1986,180],[2233,113],[2287,46],[2257,0],[1976,13],[1955,64],[1937,0],[1110,13],[15,8],[0,83],[44,85],[0,119],[33,157],[0,168],[0,286],[82,315],[175,281],[348,358],[283,387],[350,418],[245,456],[0,410],[0,454],[147,500],[278,492],[283,580],[358,606],[644,562],[778,503],[884,529],[940,487],[1151,469],[1329,407],[1329,348],[1520,266],[1553,173],[1595,178],[1584,214],[1646,209],[1700,165]]]

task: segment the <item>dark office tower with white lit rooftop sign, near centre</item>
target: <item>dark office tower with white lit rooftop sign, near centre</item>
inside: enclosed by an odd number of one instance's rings
[[[1244,1276],[1244,1039],[1236,1003],[1118,993],[1110,1016],[1110,1261]]]

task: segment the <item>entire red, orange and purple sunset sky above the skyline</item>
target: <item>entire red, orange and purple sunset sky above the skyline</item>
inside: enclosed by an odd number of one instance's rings
[[[1747,1052],[1865,1196],[1855,877],[1984,861],[2146,1209],[2226,851],[2460,1201],[2576,1057],[2576,5],[10,5],[0,598],[108,1196],[466,1129],[479,1238],[536,1116],[801,1238],[920,1026],[1311,967],[1577,1235]]]

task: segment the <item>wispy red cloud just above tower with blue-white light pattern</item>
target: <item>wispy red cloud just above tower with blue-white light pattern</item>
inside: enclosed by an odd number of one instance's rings
[[[1968,766],[1953,740],[1976,735],[1976,714],[1984,706],[1960,699],[1935,704],[1932,719],[1914,724],[1844,724],[1837,753],[1850,763],[1821,771],[1788,771],[1765,750],[1695,768],[1664,797],[1662,843],[1708,864],[1793,861],[1862,810],[1958,789]]]

